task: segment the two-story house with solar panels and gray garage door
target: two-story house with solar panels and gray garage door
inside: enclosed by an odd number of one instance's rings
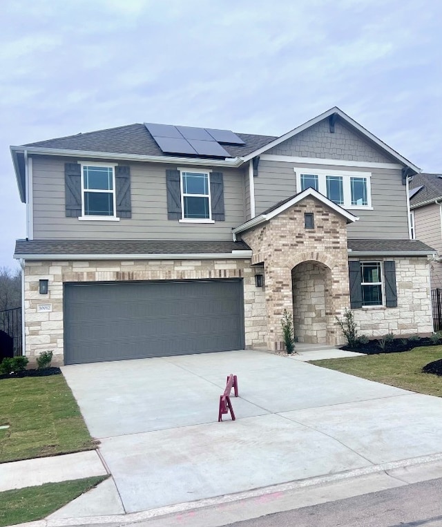
[[[411,162],[338,108],[281,137],[132,124],[12,146],[26,354],[83,363],[432,332]]]

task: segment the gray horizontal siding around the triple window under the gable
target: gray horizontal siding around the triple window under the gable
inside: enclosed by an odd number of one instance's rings
[[[349,224],[349,238],[407,239],[408,220],[405,185],[400,169],[365,169],[349,166],[300,164],[283,161],[261,161],[258,178],[255,178],[256,214],[289,198],[296,191],[294,169],[371,172],[372,211],[352,210],[360,218]]]

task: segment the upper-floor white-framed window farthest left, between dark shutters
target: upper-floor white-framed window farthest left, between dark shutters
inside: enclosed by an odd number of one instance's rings
[[[115,174],[113,166],[81,165],[82,215],[115,218]]]

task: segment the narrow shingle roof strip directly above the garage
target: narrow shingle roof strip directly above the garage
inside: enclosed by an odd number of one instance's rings
[[[215,254],[247,251],[244,242],[201,240],[17,240],[15,256],[23,254]]]

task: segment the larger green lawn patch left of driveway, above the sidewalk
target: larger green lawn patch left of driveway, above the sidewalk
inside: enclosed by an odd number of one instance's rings
[[[0,380],[0,463],[95,448],[63,375]]]

